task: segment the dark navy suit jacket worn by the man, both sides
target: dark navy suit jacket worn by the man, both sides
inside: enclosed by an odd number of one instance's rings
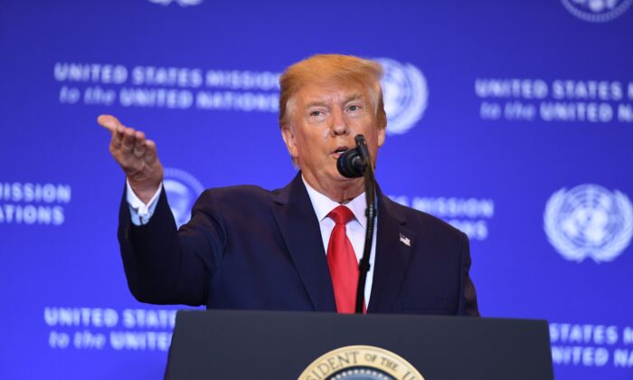
[[[378,193],[367,311],[478,316],[466,235]],[[335,311],[326,252],[300,174],[273,191],[206,190],[180,231],[165,191],[146,225],[131,223],[125,195],[119,218],[128,286],[142,302]]]

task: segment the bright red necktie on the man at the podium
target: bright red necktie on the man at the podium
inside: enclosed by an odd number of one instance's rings
[[[336,311],[354,313],[358,287],[358,261],[352,242],[347,238],[345,224],[354,218],[352,211],[340,205],[327,214],[335,222],[327,244],[327,265],[330,268],[336,299]]]

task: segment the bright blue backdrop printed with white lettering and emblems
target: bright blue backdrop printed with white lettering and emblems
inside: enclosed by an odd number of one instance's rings
[[[631,3],[0,2],[0,373],[164,370],[99,114],[156,140],[183,223],[203,187],[290,180],[279,72],[343,52],[383,62],[378,180],[468,233],[482,314],[548,319],[557,378],[633,378]]]

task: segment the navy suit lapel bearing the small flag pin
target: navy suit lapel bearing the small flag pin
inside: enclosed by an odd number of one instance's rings
[[[389,313],[393,311],[394,303],[400,294],[416,235],[404,226],[406,220],[392,200],[384,196],[380,188],[377,193],[379,200],[376,258],[372,296],[367,311]]]

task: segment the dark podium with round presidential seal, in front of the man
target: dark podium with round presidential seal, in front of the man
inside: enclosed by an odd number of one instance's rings
[[[187,310],[166,379],[553,379],[544,320]]]

